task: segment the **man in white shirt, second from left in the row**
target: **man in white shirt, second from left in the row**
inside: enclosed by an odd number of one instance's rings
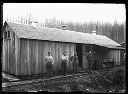
[[[66,75],[67,63],[68,63],[68,56],[67,56],[66,52],[63,53],[61,59],[62,59],[61,70],[62,70],[63,75]]]

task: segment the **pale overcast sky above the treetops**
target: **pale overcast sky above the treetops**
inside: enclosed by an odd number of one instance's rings
[[[126,10],[124,4],[89,3],[4,3],[3,20],[7,17],[28,16],[31,12],[36,21],[56,18],[71,22],[100,21],[124,22]]]

